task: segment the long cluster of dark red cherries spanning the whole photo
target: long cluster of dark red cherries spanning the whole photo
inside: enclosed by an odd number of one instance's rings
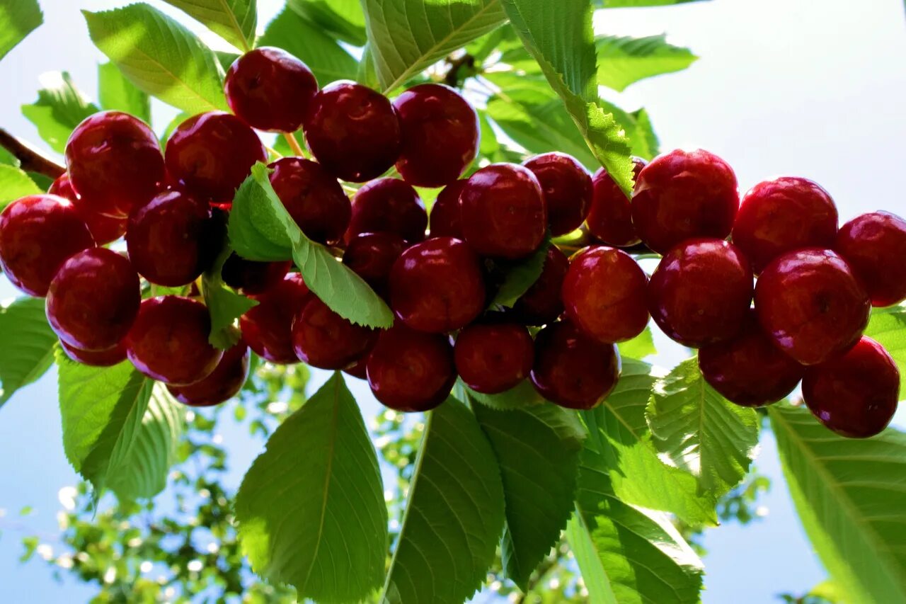
[[[426,83],[390,102],[357,83],[319,89],[274,48],[239,57],[225,93],[233,113],[189,118],[163,151],[140,120],[92,115],[48,194],[0,215],[5,274],[46,296],[72,359],[128,358],[195,405],[236,395],[251,348],[367,379],[400,411],[439,405],[457,377],[486,395],[528,378],[554,404],[587,409],[619,379],[616,345],[653,317],[699,348],[705,379],[736,404],[773,403],[802,381],[805,403],[840,434],[870,436],[891,420],[897,367],[862,334],[872,305],[906,298],[900,218],[875,212],[838,229],[834,201],[801,178],[761,182],[740,201],[727,162],[700,150],[635,160],[631,199],[605,170],[558,152],[463,178],[479,129],[456,91]],[[352,324],[290,261],[233,254],[221,277],[257,306],[220,350],[198,278],[221,254],[236,189],[268,159],[255,131],[294,142],[300,129],[313,159],[299,148],[273,161],[270,183],[304,234],[387,301],[395,325]],[[414,187],[443,188],[430,225]],[[102,247],[123,236],[127,255]],[[651,278],[640,251],[662,255]],[[494,304],[506,276],[533,261],[540,277],[514,304]],[[143,298],[159,287],[181,289]]]

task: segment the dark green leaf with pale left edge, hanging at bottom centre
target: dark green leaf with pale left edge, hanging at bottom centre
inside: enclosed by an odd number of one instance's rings
[[[476,418],[452,396],[429,412],[384,599],[462,602],[494,561],[504,492],[494,451]]]

